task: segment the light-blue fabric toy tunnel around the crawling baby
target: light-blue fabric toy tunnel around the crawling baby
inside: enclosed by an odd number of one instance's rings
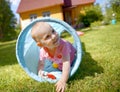
[[[73,29],[70,25],[68,25],[64,21],[54,18],[48,17],[48,18],[36,19],[33,22],[31,22],[29,25],[27,25],[27,27],[20,32],[16,43],[16,57],[18,63],[31,78],[39,82],[48,81],[54,83],[57,80],[59,80],[61,75],[60,71],[58,73],[56,72],[55,74],[53,73],[54,75],[58,76],[56,80],[43,79],[42,77],[38,77],[37,75],[40,48],[36,45],[35,41],[32,39],[30,32],[32,26],[39,21],[49,23],[53,27],[53,29],[58,32],[59,35],[61,35],[64,31],[66,31],[73,37],[74,40],[73,45],[77,50],[76,59],[70,71],[70,77],[73,76],[81,63],[81,58],[82,58],[82,48],[81,48],[80,38],[77,35],[75,29]]]

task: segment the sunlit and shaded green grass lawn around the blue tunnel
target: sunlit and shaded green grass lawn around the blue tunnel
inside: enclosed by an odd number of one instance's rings
[[[81,30],[83,58],[66,92],[120,92],[119,25]],[[31,79],[18,65],[15,44],[0,42],[0,92],[55,92],[54,84]]]

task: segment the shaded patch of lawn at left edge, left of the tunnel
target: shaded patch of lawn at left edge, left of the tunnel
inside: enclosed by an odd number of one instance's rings
[[[13,65],[17,63],[15,44],[15,41],[0,44],[0,66]]]

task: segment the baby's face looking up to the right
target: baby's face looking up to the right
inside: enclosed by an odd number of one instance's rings
[[[55,48],[59,45],[59,40],[59,35],[52,28],[50,28],[50,30],[44,30],[41,34],[41,43],[43,47]]]

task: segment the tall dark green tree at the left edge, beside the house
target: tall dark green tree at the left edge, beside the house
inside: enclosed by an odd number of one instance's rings
[[[0,39],[11,40],[16,36],[16,18],[10,9],[9,0],[0,0]]]

